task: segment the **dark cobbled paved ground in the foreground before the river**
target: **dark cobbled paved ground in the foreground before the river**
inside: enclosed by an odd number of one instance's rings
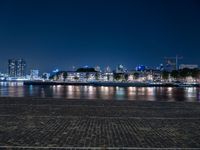
[[[200,149],[200,103],[0,98],[1,149]]]

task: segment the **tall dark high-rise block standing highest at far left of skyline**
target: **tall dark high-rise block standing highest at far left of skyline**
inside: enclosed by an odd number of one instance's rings
[[[10,77],[25,77],[26,62],[23,59],[9,59],[8,75]]]

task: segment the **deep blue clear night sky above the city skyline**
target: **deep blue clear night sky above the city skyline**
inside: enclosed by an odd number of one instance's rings
[[[0,71],[138,64],[165,56],[200,64],[199,0],[1,0]]]

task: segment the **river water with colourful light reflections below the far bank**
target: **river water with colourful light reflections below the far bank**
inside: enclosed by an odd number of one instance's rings
[[[0,82],[0,97],[194,102],[200,101],[200,88],[24,86],[21,82]]]

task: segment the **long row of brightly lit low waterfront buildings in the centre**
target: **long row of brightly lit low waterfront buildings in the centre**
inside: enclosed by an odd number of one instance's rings
[[[95,71],[66,71],[56,74],[52,80],[54,81],[81,81],[81,82],[151,82],[159,81],[161,79],[161,72],[159,70],[133,70],[128,71],[123,65],[116,67],[114,71],[110,67],[106,67],[105,70],[97,70],[99,67],[95,67]],[[140,67],[139,67],[140,68]],[[85,68],[87,70],[87,68]],[[64,74],[67,74],[66,76]]]

